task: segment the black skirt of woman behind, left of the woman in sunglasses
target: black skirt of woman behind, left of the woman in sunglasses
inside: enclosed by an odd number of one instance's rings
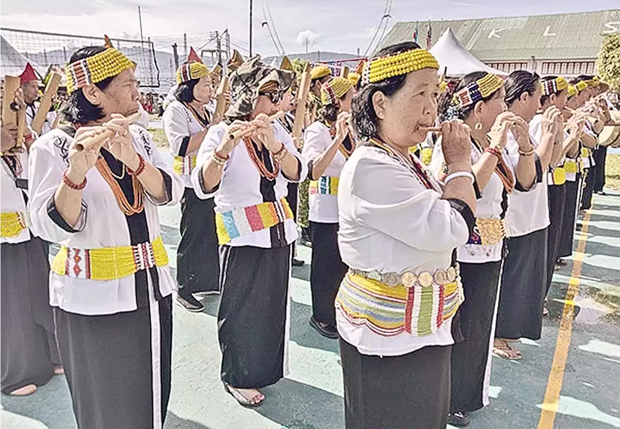
[[[181,200],[181,241],[177,249],[177,281],[185,292],[219,291],[218,236],[215,201],[200,199],[186,187]]]

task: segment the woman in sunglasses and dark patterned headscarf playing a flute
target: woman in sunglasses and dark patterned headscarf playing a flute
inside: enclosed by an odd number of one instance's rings
[[[291,243],[298,237],[286,192],[308,166],[288,132],[268,117],[293,73],[255,56],[230,79],[236,102],[207,132],[192,184],[202,199],[215,194],[222,381],[240,404],[255,407],[265,399],[258,389],[285,374]],[[243,131],[249,135],[240,137]]]

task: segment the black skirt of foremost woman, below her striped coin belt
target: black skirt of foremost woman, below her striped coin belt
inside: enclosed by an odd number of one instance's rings
[[[340,338],[346,429],[443,429],[451,346],[368,356]]]

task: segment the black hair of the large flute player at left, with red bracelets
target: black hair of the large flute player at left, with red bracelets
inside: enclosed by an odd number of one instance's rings
[[[84,60],[84,58],[88,58],[89,56],[97,55],[98,53],[104,52],[106,49],[107,48],[104,46],[87,46],[80,48],[74,52],[73,55],[71,55],[69,64],[73,64],[75,61]],[[95,83],[95,85],[97,88],[103,90],[107,88],[110,82],[112,82],[112,79],[114,78],[106,78],[98,83]],[[76,89],[73,93],[71,93],[71,95],[69,95],[69,98],[60,112],[64,115],[65,119],[72,124],[87,124],[92,120],[103,119],[105,116],[104,109],[91,104],[91,102],[84,96],[82,89]]]

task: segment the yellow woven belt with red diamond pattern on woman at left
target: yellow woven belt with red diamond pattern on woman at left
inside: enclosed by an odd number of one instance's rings
[[[61,246],[51,269],[59,276],[76,279],[113,280],[153,268],[166,266],[168,255],[161,237],[135,246],[76,249]]]

